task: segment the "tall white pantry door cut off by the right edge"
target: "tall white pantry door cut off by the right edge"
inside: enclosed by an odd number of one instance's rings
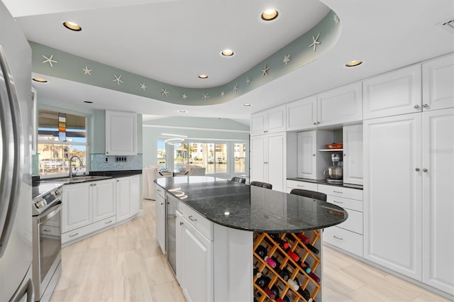
[[[454,295],[454,109],[423,113],[423,282]],[[421,235],[421,234],[420,234]]]

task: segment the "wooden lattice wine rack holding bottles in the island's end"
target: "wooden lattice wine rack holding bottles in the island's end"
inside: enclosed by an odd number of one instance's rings
[[[285,242],[289,247],[283,246]],[[269,258],[263,257],[265,250],[259,245],[265,247]],[[254,233],[255,301],[316,301],[317,294],[321,291],[320,245],[319,230],[304,233]],[[261,255],[258,253],[260,249]],[[299,257],[298,261],[292,252]],[[277,266],[273,268],[272,262],[277,263]],[[321,294],[319,298],[320,296]]]

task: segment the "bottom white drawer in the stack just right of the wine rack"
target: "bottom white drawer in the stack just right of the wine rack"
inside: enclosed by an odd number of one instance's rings
[[[323,231],[323,242],[339,247],[342,250],[362,257],[362,235],[338,228],[326,228]]]

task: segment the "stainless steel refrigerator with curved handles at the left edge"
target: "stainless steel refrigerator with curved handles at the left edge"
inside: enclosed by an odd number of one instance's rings
[[[0,301],[33,301],[31,47],[0,1]]]

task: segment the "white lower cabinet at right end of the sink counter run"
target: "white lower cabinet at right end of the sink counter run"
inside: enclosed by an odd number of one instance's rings
[[[126,220],[139,211],[140,176],[116,179],[116,220]]]

